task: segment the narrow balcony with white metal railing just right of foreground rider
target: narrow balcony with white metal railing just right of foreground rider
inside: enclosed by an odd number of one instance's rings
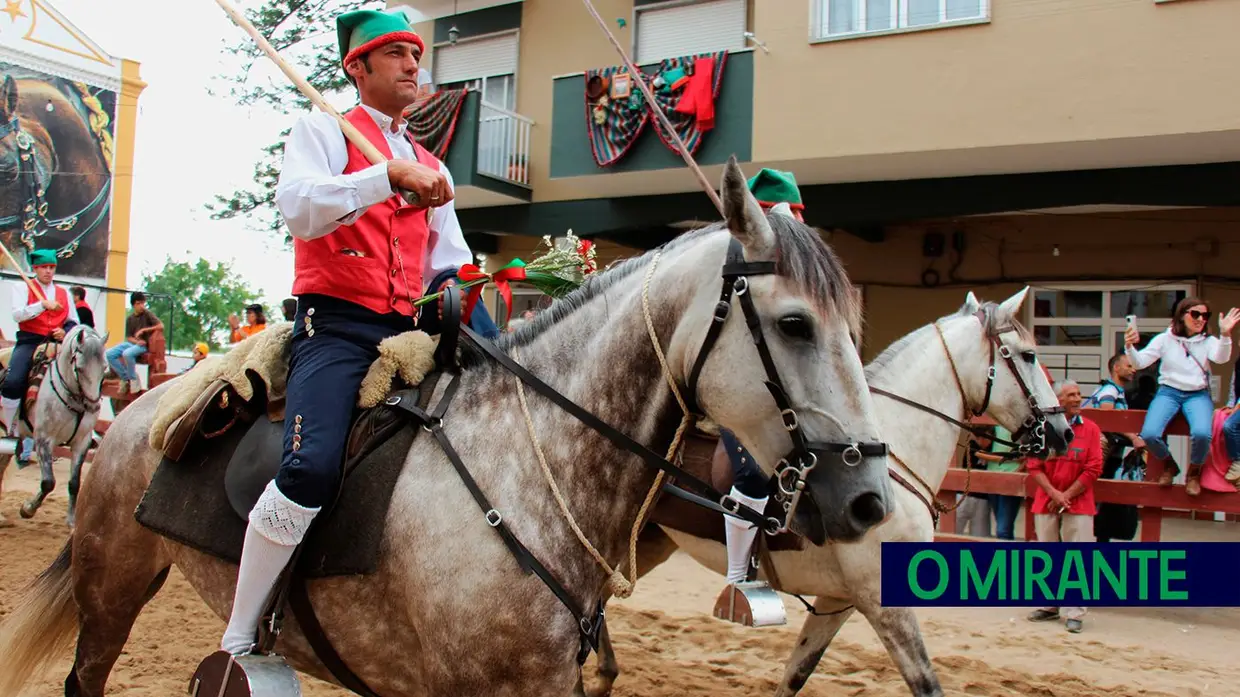
[[[533,120],[465,95],[445,159],[456,185],[456,207],[528,203],[529,131]]]

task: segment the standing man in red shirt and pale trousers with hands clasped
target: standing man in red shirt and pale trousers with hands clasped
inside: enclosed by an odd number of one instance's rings
[[[1055,386],[1059,406],[1076,437],[1068,453],[1047,460],[1029,458],[1025,468],[1038,482],[1033,494],[1033,525],[1039,542],[1094,542],[1094,482],[1102,474],[1102,430],[1081,415],[1081,388],[1068,380]],[[1030,621],[1059,619],[1060,608],[1042,608]],[[1083,628],[1085,608],[1063,608],[1068,631]]]

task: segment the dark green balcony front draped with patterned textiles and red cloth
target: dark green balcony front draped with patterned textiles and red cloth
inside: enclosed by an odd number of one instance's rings
[[[601,66],[600,66],[601,67]],[[658,63],[639,66],[642,72],[655,74]],[[723,82],[715,98],[714,129],[707,131],[694,159],[699,165],[722,165],[730,155],[748,161],[753,155],[754,138],[754,55],[751,51],[734,51],[728,55]],[[636,88],[634,88],[636,92]],[[598,175],[622,175],[626,172],[652,172],[684,167],[678,154],[663,145],[649,123],[627,154],[610,166],[600,167],[590,150],[587,128],[585,74],[574,73],[557,77],[553,87],[551,129],[551,177],[577,179],[584,189],[609,186],[613,177]],[[672,174],[672,172],[668,172]],[[662,176],[640,175],[657,184]],[[591,181],[596,180],[596,181]],[[661,186],[661,185],[660,185]],[[601,191],[601,190],[600,190]],[[588,191],[582,191],[583,193]],[[601,195],[601,193],[600,193]]]

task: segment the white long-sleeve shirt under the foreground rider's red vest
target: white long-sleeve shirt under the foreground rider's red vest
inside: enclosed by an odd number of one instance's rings
[[[362,108],[383,131],[393,158],[415,159],[413,145],[404,135],[403,119],[393,130],[391,117],[365,104]],[[334,117],[314,112],[294,124],[284,144],[284,169],[275,185],[275,206],[293,237],[309,241],[331,234],[337,227],[356,222],[366,208],[393,196],[387,165],[372,165],[346,175],[342,172],[347,162],[345,134]],[[448,165],[439,162],[439,171],[455,189]],[[465,243],[451,201],[432,213],[427,251],[423,267],[427,283],[440,272],[472,263],[474,254]]]

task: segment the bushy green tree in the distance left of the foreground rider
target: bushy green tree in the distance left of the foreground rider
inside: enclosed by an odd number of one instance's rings
[[[174,262],[169,258],[164,268],[143,275],[143,288],[150,294],[170,296],[151,298],[151,311],[171,327],[169,346],[188,350],[197,341],[206,341],[218,348],[218,337],[228,329],[228,315],[257,300],[263,291],[253,290],[232,270],[229,264],[206,259],[196,263]]]

